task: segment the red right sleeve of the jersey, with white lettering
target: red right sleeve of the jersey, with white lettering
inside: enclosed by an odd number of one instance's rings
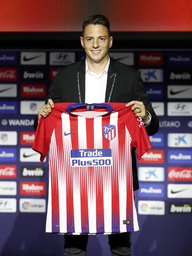
[[[152,147],[142,118],[135,117],[131,107],[125,108],[120,112],[121,115],[123,114],[125,126],[131,135],[131,147],[137,149],[137,158],[140,160],[141,156]]]

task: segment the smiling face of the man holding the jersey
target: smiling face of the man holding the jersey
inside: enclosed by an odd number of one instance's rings
[[[113,37],[102,25],[87,25],[81,36],[81,44],[85,49],[87,61],[91,63],[103,63],[108,59],[108,51],[112,46]]]

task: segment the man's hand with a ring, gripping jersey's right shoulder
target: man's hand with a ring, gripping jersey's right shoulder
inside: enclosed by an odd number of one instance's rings
[[[142,101],[130,101],[125,105],[125,107],[129,107],[131,105],[131,110],[134,112],[136,117],[141,117],[144,123],[149,120],[147,111]]]

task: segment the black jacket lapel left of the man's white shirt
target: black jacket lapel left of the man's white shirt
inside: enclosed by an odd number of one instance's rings
[[[79,92],[82,103],[85,102],[85,58],[80,62],[78,69],[79,76]],[[77,85],[78,86],[78,85]]]

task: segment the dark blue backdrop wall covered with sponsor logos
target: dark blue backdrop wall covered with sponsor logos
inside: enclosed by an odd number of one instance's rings
[[[160,120],[138,163],[133,256],[191,255],[192,50],[110,55],[140,70]],[[81,50],[0,51],[0,255],[63,253],[63,236],[45,234],[47,159],[40,163],[31,149],[33,122],[58,68],[82,57]],[[110,255],[107,240],[91,236],[87,254]]]

